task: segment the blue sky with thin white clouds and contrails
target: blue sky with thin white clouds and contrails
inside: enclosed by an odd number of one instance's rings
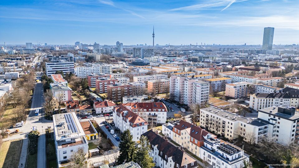
[[[0,44],[299,43],[298,0],[4,0]]]

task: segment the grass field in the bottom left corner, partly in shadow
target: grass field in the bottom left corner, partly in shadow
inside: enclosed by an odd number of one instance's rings
[[[0,150],[0,168],[18,167],[23,140],[6,141]]]

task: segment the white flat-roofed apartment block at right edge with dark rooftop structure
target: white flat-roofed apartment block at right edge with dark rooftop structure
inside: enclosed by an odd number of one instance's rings
[[[270,137],[278,143],[288,145],[299,142],[299,112],[295,107],[268,107],[259,110],[259,119],[268,120],[273,125]]]

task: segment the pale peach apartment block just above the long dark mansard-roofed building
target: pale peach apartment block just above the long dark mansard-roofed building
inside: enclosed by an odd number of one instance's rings
[[[235,99],[246,97],[249,94],[248,86],[252,83],[236,82],[225,85],[225,96]]]

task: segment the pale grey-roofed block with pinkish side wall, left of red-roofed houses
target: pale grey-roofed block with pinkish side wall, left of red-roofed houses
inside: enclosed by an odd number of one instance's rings
[[[56,100],[62,100],[62,102],[72,99],[72,89],[69,86],[52,86],[51,91]]]

